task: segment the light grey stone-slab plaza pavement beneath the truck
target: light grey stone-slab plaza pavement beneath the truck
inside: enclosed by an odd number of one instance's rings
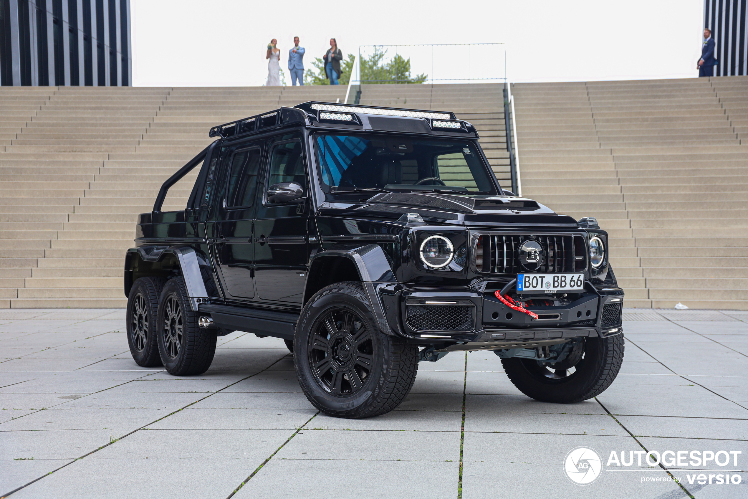
[[[748,312],[626,309],[624,319],[621,373],[597,399],[536,402],[495,355],[451,353],[419,365],[396,411],[346,420],[307,402],[275,338],[221,337],[205,375],[177,378],[132,361],[124,310],[4,310],[0,495],[748,497]],[[562,465],[580,446],[601,456],[589,486]],[[687,451],[686,465],[638,465],[643,449]],[[691,451],[720,450],[741,454],[688,465]],[[634,463],[606,466],[612,451]],[[741,483],[717,485],[716,474]]]

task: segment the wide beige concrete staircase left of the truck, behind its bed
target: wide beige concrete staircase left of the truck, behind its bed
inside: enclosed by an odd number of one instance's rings
[[[124,307],[124,251],[208,129],[346,87],[0,88],[0,307]],[[183,209],[194,174],[169,191]]]

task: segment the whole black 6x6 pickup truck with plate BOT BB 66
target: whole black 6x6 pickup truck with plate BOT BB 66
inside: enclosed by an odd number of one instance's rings
[[[125,258],[141,366],[204,373],[216,337],[279,337],[309,401],[393,410],[418,362],[491,350],[547,402],[621,367],[624,292],[595,218],[502,189],[451,112],[306,102],[215,126],[162,186]],[[187,206],[168,189],[200,168]]]

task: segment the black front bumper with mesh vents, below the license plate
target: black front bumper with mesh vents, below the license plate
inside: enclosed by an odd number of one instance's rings
[[[539,315],[534,320],[498,301],[485,283],[480,290],[386,284],[378,287],[378,296],[391,331],[416,343],[465,342],[462,345],[470,344],[469,349],[528,348],[622,332],[623,290],[595,287],[589,281],[585,292],[573,301],[536,297],[545,304],[527,306]]]

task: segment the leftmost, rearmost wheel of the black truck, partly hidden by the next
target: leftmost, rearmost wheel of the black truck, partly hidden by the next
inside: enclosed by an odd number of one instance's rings
[[[141,367],[161,365],[156,340],[156,317],[165,279],[140,278],[132,284],[127,299],[127,344],[135,364]]]

